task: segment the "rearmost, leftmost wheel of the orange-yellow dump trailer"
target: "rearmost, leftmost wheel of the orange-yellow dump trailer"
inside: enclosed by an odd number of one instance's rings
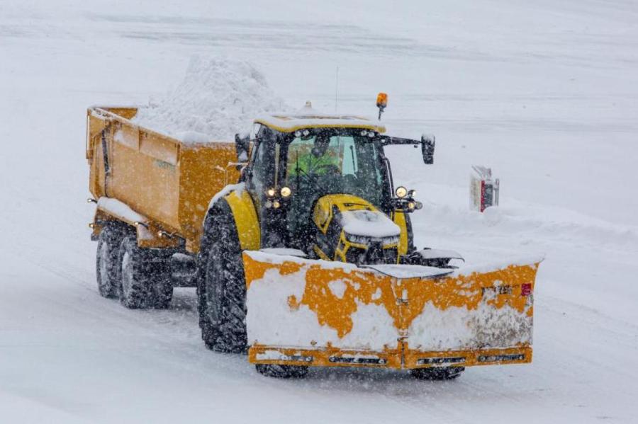
[[[121,239],[120,232],[113,227],[104,227],[99,234],[95,268],[98,290],[103,297],[118,294]]]

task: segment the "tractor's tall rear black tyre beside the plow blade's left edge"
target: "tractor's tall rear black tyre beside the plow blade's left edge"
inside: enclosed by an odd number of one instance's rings
[[[216,207],[206,228],[209,243],[199,282],[201,336],[212,350],[245,353],[246,282],[230,208]]]

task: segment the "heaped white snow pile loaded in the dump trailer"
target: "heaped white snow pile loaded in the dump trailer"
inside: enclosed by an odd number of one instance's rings
[[[140,108],[133,122],[186,143],[229,141],[255,116],[283,106],[249,62],[193,57],[177,88]]]

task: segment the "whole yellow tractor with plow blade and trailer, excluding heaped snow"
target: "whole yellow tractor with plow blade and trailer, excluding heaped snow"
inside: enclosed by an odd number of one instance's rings
[[[393,187],[384,148],[432,164],[434,137],[307,107],[257,118],[234,144],[188,144],[135,113],[88,114],[104,296],[167,307],[172,287],[194,285],[208,348],[247,351],[274,377],[355,366],[449,379],[531,362],[540,260],[457,268],[458,253],[414,245],[422,205]]]

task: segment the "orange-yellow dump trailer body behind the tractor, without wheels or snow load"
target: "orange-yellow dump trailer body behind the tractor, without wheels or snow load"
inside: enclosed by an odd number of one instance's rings
[[[197,253],[208,202],[235,183],[234,142],[182,142],[135,125],[135,108],[89,108],[86,159],[94,198],[116,199],[142,217],[122,214],[122,205],[101,202],[94,235],[101,222],[122,219],[138,228],[140,247],[185,243]]]

